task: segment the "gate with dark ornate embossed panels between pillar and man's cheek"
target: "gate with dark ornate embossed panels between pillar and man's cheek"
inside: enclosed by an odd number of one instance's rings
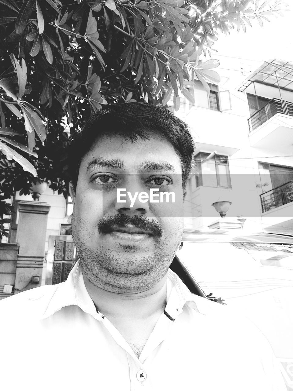
[[[49,236],[46,285],[66,281],[76,261],[72,235]]]

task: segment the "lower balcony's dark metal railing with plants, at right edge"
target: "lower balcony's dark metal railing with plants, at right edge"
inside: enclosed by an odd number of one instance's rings
[[[293,201],[293,181],[284,183],[272,190],[260,194],[262,212],[278,208]]]

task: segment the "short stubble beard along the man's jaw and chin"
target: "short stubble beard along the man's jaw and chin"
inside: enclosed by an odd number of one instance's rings
[[[176,228],[173,242],[163,235],[155,239],[155,252],[146,250],[145,255],[135,259],[134,246],[123,246],[121,256],[110,253],[99,245],[92,249],[86,245],[80,233],[90,237],[86,221],[72,213],[72,237],[83,275],[94,285],[112,292],[140,292],[159,282],[167,273],[181,242],[181,227]],[[123,262],[121,262],[121,258]]]

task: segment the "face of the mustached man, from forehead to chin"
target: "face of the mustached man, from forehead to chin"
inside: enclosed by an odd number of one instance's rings
[[[71,189],[72,235],[83,273],[114,292],[143,291],[159,282],[182,239],[181,162],[168,140],[149,135],[135,143],[99,138],[81,161],[75,194]],[[175,203],[172,197],[134,201],[136,192],[150,194],[151,188],[174,192]],[[117,189],[130,195],[118,199]]]

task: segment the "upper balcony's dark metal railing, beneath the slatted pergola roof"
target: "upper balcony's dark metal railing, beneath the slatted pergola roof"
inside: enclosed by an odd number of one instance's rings
[[[264,107],[248,118],[250,133],[277,113],[293,117],[293,103],[282,99],[271,99]]]

